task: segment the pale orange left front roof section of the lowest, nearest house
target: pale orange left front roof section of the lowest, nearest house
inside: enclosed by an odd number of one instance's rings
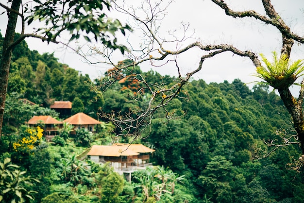
[[[106,145],[93,145],[87,155],[95,156],[135,156],[139,153],[130,149],[123,149],[121,146],[106,146]]]

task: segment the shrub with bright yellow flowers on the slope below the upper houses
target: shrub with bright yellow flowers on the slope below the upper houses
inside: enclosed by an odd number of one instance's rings
[[[20,132],[20,136],[16,142],[13,143],[13,148],[18,151],[30,151],[34,146],[39,145],[39,140],[43,136],[43,129],[39,126],[36,128],[26,128],[23,132]]]

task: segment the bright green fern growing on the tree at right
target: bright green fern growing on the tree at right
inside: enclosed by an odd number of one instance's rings
[[[286,54],[282,54],[278,59],[278,54],[275,51],[272,53],[272,63],[263,54],[260,54],[266,67],[257,67],[255,76],[266,81],[262,83],[266,83],[275,89],[283,89],[294,84],[299,77],[304,75],[303,60],[297,60],[290,64]]]

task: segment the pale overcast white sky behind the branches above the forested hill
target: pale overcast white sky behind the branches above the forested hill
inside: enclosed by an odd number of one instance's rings
[[[7,0],[0,0],[6,4]],[[134,6],[139,3],[139,0],[132,1]],[[225,0],[225,2],[236,11],[255,10],[264,15],[262,2],[260,0]],[[304,1],[303,0],[272,0],[271,1],[276,11],[285,20],[291,30],[299,35],[304,35]],[[138,4],[139,5],[139,4]],[[0,10],[1,13],[2,10]],[[166,10],[166,17],[161,21],[160,34],[168,34],[167,31],[179,29],[182,27],[181,22],[189,23],[189,31],[195,31],[194,37],[199,39],[204,44],[232,44],[236,48],[246,51],[250,50],[255,53],[263,53],[268,58],[271,58],[271,52],[280,52],[281,35],[271,25],[257,21],[253,18],[233,18],[225,15],[224,11],[219,6],[215,5],[211,0],[175,0]],[[131,20],[131,18],[111,12],[111,17],[120,19],[121,22]],[[0,30],[4,35],[6,25],[6,14],[0,16]],[[19,30],[18,30],[19,29]],[[20,27],[17,28],[20,32]],[[31,29],[26,30],[31,33]],[[139,42],[141,34],[134,32],[128,33],[127,37],[132,39],[132,42]],[[119,39],[121,43],[125,43],[125,39]],[[46,42],[41,42],[39,39],[28,38],[29,48],[37,50],[39,53],[54,52],[56,58],[61,63],[68,64],[69,67],[81,71],[82,74],[89,74],[91,79],[97,78],[104,73],[109,67],[104,64],[88,65],[83,58],[74,53],[63,45],[48,45]],[[88,46],[84,41],[79,42],[84,49]],[[178,46],[185,46],[180,44]],[[69,46],[76,48],[76,43],[71,42]],[[95,45],[94,45],[95,46]],[[99,46],[99,44],[96,44]],[[197,67],[202,52],[194,50],[189,53],[179,56],[178,61],[183,73]],[[292,51],[291,58],[304,59],[304,46],[295,45]],[[123,59],[119,53],[114,56],[114,60]],[[102,58],[96,58],[96,61],[101,61]],[[152,67],[150,63],[141,64],[140,68],[143,71],[153,69],[162,75],[177,76],[177,70],[170,66]],[[252,62],[244,57],[233,55],[230,52],[222,53],[211,59],[205,60],[203,69],[196,73],[194,79],[203,79],[206,83],[216,82],[221,83],[224,80],[232,82],[238,78],[242,82],[253,86],[254,81],[258,78],[252,76],[255,72],[255,67]],[[298,87],[292,87],[297,91]],[[291,90],[293,91],[293,90]]]

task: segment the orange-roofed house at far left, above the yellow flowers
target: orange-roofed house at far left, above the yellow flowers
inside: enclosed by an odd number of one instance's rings
[[[43,135],[45,135],[47,140],[51,140],[51,138],[57,134],[58,130],[62,128],[63,124],[51,116],[34,116],[26,123],[29,124],[30,127],[40,125],[43,129]]]

